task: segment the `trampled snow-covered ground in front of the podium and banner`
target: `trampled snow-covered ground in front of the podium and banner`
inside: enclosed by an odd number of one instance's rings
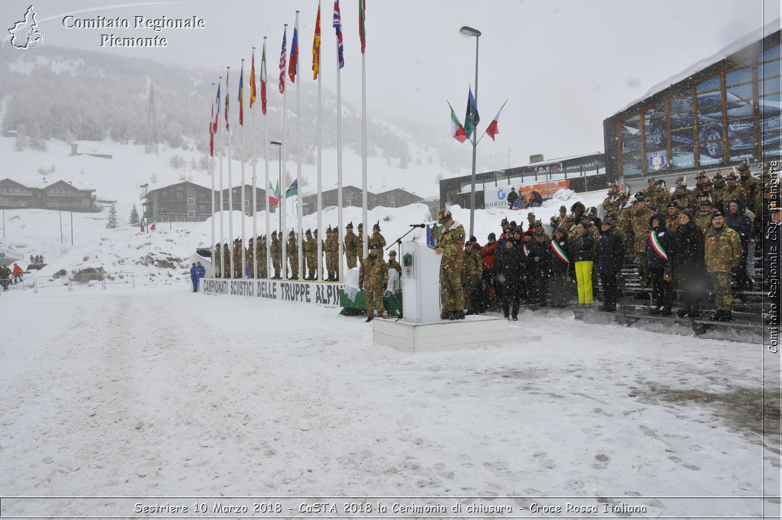
[[[336,309],[185,283],[8,291],[0,305],[0,494],[109,497],[4,498],[4,518],[131,516],[138,503],[206,518],[193,504],[221,501],[132,497],[312,497],[264,502],[345,515],[360,500],[328,498],[343,496],[388,497],[371,499],[388,518],[451,515],[394,503],[473,502],[517,517],[567,503],[599,508],[583,516],[628,516],[603,503],[779,515],[758,498],[780,489],[761,409],[764,362],[778,381],[779,359],[757,345],[526,311],[519,326],[539,342],[411,355]]]

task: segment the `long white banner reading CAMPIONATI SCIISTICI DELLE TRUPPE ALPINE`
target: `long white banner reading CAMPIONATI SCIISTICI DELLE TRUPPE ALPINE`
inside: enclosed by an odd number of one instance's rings
[[[344,283],[307,283],[285,280],[224,280],[204,278],[202,291],[206,294],[227,294],[248,298],[267,298],[282,302],[314,303],[325,307],[339,307],[339,290]]]

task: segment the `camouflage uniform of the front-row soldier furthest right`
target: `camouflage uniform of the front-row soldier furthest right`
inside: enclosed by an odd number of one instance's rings
[[[741,263],[741,240],[738,233],[724,225],[709,229],[706,233],[706,270],[712,277],[717,310],[730,310],[733,292],[730,277],[733,269]]]

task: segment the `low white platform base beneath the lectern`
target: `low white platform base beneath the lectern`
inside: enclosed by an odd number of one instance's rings
[[[485,345],[540,341],[524,327],[510,326],[504,318],[465,316],[464,320],[411,323],[404,320],[372,320],[372,339],[401,352],[439,352]]]

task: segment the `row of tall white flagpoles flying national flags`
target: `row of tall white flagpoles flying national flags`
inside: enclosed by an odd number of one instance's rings
[[[364,222],[364,229],[368,229],[367,227],[367,122],[366,122],[366,60],[365,60],[365,47],[366,47],[366,31],[365,31],[365,13],[366,13],[366,0],[358,0],[359,3],[359,37],[361,40],[361,135],[362,135],[362,146],[361,146],[361,152],[362,152],[362,200],[363,200],[363,211],[362,211],[362,222]],[[266,71],[266,37],[264,36],[264,48],[262,52],[261,57],[261,69],[260,69],[260,85],[261,85],[261,112],[264,115],[264,169],[265,169],[265,180],[264,180],[264,190],[267,192],[267,200],[266,200],[266,258],[267,258],[267,269],[266,272],[268,273],[268,276],[271,278],[271,273],[273,273],[272,268],[272,258],[271,258],[271,218],[270,218],[270,206],[276,205],[278,210],[281,212],[281,222],[280,222],[280,229],[279,229],[279,239],[282,242],[282,262],[281,262],[281,273],[280,275],[282,278],[287,277],[288,273],[288,260],[287,260],[287,243],[288,243],[288,237],[284,236],[284,230],[286,229],[286,222],[285,217],[287,211],[285,210],[286,206],[286,200],[288,198],[288,193],[295,190],[296,197],[298,200],[298,208],[297,208],[297,229],[299,229],[299,233],[296,233],[296,245],[299,251],[298,254],[298,273],[301,274],[303,277],[303,265],[302,265],[302,258],[303,258],[303,242],[302,242],[302,217],[303,217],[303,204],[301,203],[301,186],[300,186],[300,179],[301,179],[301,126],[300,126],[300,114],[301,114],[301,103],[300,103],[300,91],[299,91],[299,84],[296,83],[296,76],[299,73],[299,11],[296,11],[296,20],[293,27],[293,38],[291,41],[291,50],[290,50],[290,60],[289,63],[287,63],[287,73],[289,76],[289,79],[291,83],[296,85],[296,179],[292,182],[291,187],[286,190],[285,197],[282,196],[282,186],[280,186],[281,182],[278,181],[277,190],[274,190],[274,197],[271,197],[271,194],[269,194],[269,190],[271,190],[271,182],[269,180],[269,158],[268,158],[268,125],[267,125],[267,98],[266,98],[266,82],[267,82],[267,71]],[[342,92],[341,92],[341,78],[340,78],[340,70],[344,67],[344,55],[343,55],[343,35],[342,35],[342,19],[339,12],[339,0],[335,0],[334,2],[334,15],[333,15],[333,21],[332,26],[335,28],[335,38],[336,38],[336,51],[337,51],[337,69],[336,69],[336,81],[337,81],[337,205],[338,205],[338,211],[337,211],[337,218],[338,218],[338,235],[341,235],[343,231],[343,186],[342,186]],[[288,24],[284,24],[283,29],[283,35],[282,35],[282,51],[280,53],[280,78],[279,78],[279,92],[282,94],[282,150],[281,150],[281,158],[280,161],[282,164],[280,164],[281,169],[281,176],[282,172],[286,171],[287,166],[287,157],[286,157],[286,143],[287,138],[285,135],[285,122],[286,122],[286,100],[287,100],[287,89],[285,88],[285,68],[286,68],[286,60],[287,60],[287,53],[286,53],[286,46],[287,46],[287,29]],[[321,211],[322,211],[322,198],[321,198],[321,63],[320,63],[320,43],[321,43],[321,2],[318,2],[317,4],[317,19],[315,22],[315,34],[313,38],[313,64],[312,64],[312,70],[313,70],[313,78],[317,79],[317,229],[319,230],[318,237],[317,237],[317,269],[316,271],[316,280],[321,280],[322,278],[322,246],[321,246],[321,236],[320,233],[321,230]],[[242,150],[242,164],[241,164],[241,182],[242,182],[242,190],[241,190],[241,197],[242,197],[242,204],[240,210],[242,211],[242,232],[241,232],[241,240],[242,240],[242,273],[241,276],[246,276],[245,273],[245,265],[247,265],[247,255],[246,255],[246,226],[245,226],[245,216],[246,212],[244,209],[244,204],[246,201],[246,193],[245,193],[245,186],[246,186],[246,179],[245,179],[245,140],[244,140],[244,59],[242,59],[242,69],[239,75],[239,126],[241,127],[241,150]],[[224,105],[224,117],[225,117],[225,131],[227,132],[228,137],[228,236],[233,237],[233,218],[231,217],[233,212],[233,179],[232,179],[232,170],[231,170],[231,129],[229,125],[228,120],[228,112],[229,112],[229,99],[230,94],[228,91],[228,80],[229,80],[229,74],[230,74],[231,67],[226,67],[226,75],[225,75],[225,105]],[[253,104],[256,103],[256,74],[255,74],[255,47],[253,47],[253,62],[252,67],[250,70],[250,75],[252,76],[251,82],[250,82],[250,102],[249,102],[249,108],[250,112],[252,114],[252,132],[253,132],[253,147],[252,147],[252,154],[253,154],[253,262],[256,262],[257,264],[257,258],[255,256],[257,255],[257,244],[255,244],[255,240],[257,240],[258,234],[257,234],[257,193],[256,193],[256,150],[255,150],[255,110],[253,110]],[[212,248],[212,265],[213,265],[213,271],[215,273],[220,273],[221,276],[224,275],[225,269],[224,265],[225,262],[228,262],[228,265],[231,265],[231,258],[233,255],[233,244],[228,247],[228,255],[226,255],[226,249],[224,247],[224,200],[223,200],[223,128],[222,125],[219,124],[220,122],[220,108],[221,108],[221,87],[222,87],[222,76],[219,78],[219,82],[217,84],[217,96],[215,96],[214,93],[214,84],[212,84],[212,96],[214,99],[214,102],[211,107],[211,115],[210,115],[210,125],[209,125],[209,131],[210,131],[210,169],[211,169],[211,181],[212,181],[212,215],[215,214],[215,204],[217,203],[217,197],[215,196],[215,171],[214,171],[214,134],[217,133],[217,147],[220,153],[220,157],[218,160],[218,168],[219,168],[219,175],[220,175],[220,197],[219,197],[219,204],[220,204],[220,241],[219,246],[221,247],[221,255],[220,255],[220,265],[217,265],[217,258],[215,255],[215,247]],[[215,107],[217,107],[217,110],[215,110]],[[219,127],[219,128],[218,128]],[[265,187],[268,186],[268,187]],[[212,218],[212,244],[218,244],[215,239],[216,230],[215,230],[215,218]],[[364,237],[366,239],[366,237]],[[230,240],[230,238],[229,238]],[[363,248],[361,251],[362,258],[367,255],[367,240],[362,240],[363,242]],[[339,237],[338,240],[339,243],[339,280],[344,280],[344,267],[343,267],[343,240],[341,237]],[[291,262],[293,263],[293,262]],[[291,265],[293,267],[293,265]],[[314,266],[310,265],[310,274],[311,270]],[[233,276],[233,269],[229,269],[231,271],[231,276]],[[253,269],[255,273],[255,277],[260,277],[260,269]]]

